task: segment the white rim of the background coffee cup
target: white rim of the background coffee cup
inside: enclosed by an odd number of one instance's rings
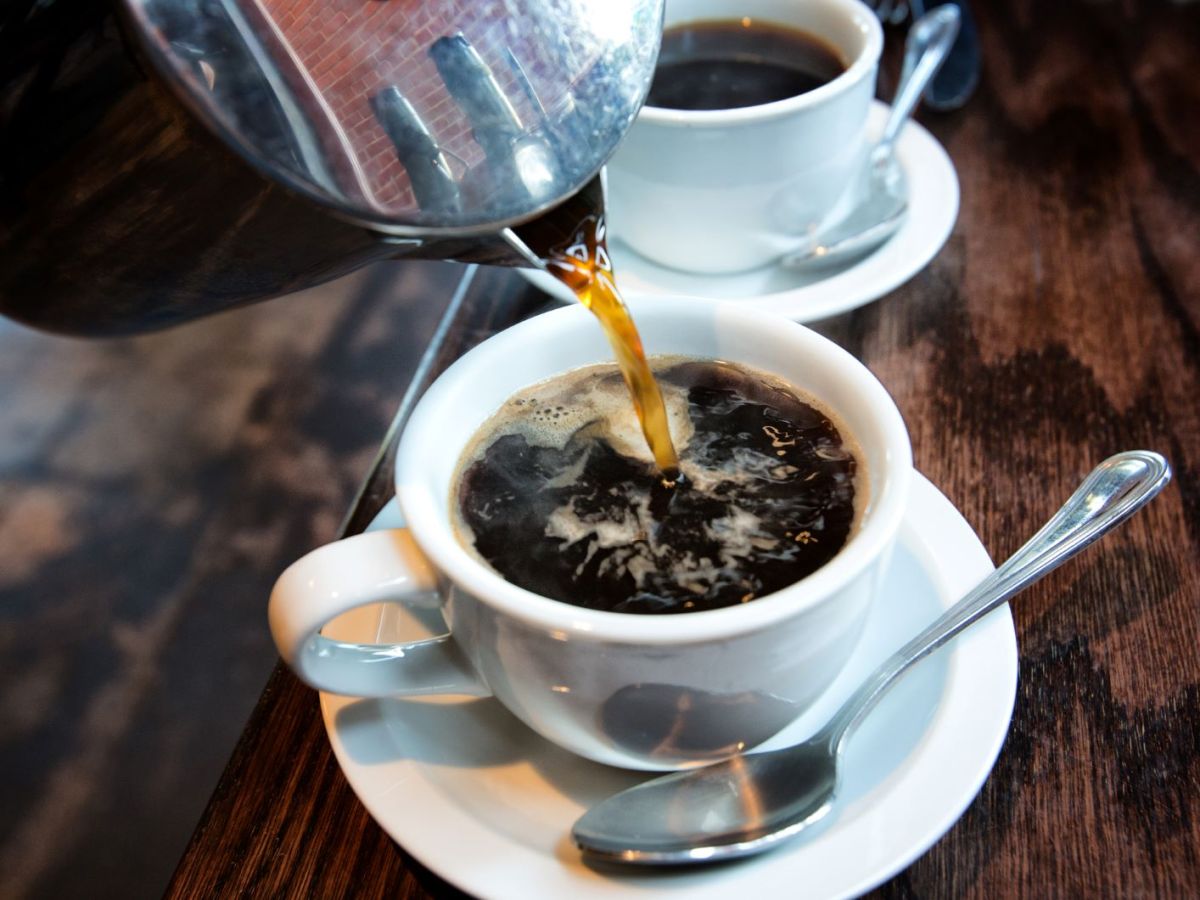
[[[815,107],[824,103],[830,97],[842,94],[851,86],[869,77],[875,72],[883,53],[883,28],[878,17],[870,11],[860,0],[821,0],[821,2],[836,6],[848,13],[851,20],[863,36],[864,46],[862,52],[839,74],[827,84],[814,88],[810,91],[797,94],[794,97],[776,100],[772,103],[760,103],[751,107],[737,107],[733,109],[670,109],[667,107],[652,107],[646,104],[638,112],[637,118],[650,125],[666,125],[679,127],[696,127],[708,125],[736,125],[748,121],[769,121],[780,116],[791,115],[800,109]],[[778,18],[766,16],[750,17],[762,18],[773,24],[794,26],[791,23],[781,22]],[[671,23],[667,28],[694,19],[680,19]],[[700,20],[700,19],[695,19]]]

